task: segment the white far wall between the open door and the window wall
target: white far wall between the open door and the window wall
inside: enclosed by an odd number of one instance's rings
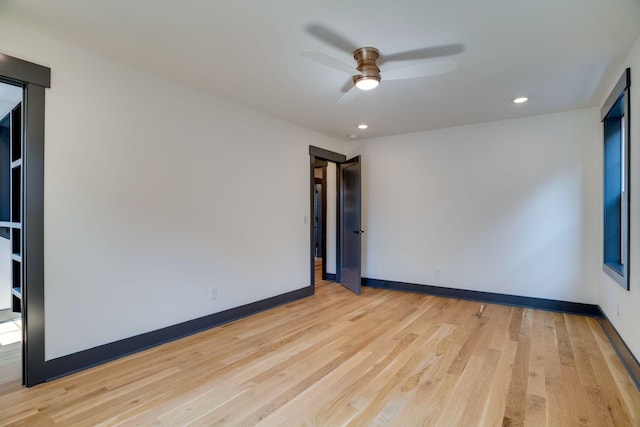
[[[598,135],[585,109],[358,143],[363,275],[597,304]]]

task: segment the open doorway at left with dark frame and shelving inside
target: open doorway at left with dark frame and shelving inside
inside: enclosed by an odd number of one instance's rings
[[[21,111],[12,115],[20,123],[11,123],[19,145],[11,145],[9,164],[10,197],[19,195],[19,201],[10,200],[10,219],[3,225],[5,234],[7,228],[10,233],[12,310],[19,308],[21,314],[19,376],[23,385],[32,386],[48,376],[44,352],[44,102],[51,69],[0,53],[0,82],[17,87],[22,94]]]

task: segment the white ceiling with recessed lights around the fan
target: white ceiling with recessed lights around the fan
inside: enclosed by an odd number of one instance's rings
[[[599,106],[640,34],[639,0],[0,0],[0,17],[339,139]],[[349,76],[300,52],[355,62],[314,25],[382,55],[463,49],[451,73],[383,72],[337,106]]]

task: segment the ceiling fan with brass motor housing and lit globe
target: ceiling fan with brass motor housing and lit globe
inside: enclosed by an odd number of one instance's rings
[[[311,35],[325,43],[353,54],[353,58],[356,60],[356,66],[351,66],[333,58],[332,56],[315,50],[304,50],[301,52],[306,58],[336,70],[351,74],[353,83],[349,84],[350,88],[340,99],[338,99],[338,102],[336,103],[338,105],[353,101],[360,90],[371,90],[376,88],[383,80],[383,77],[384,80],[401,80],[432,76],[453,71],[458,66],[458,63],[455,60],[449,58],[434,60],[434,58],[455,55],[464,50],[463,45],[451,44],[381,55],[380,51],[375,47],[358,47],[336,32],[319,24],[311,24],[307,26],[306,29]],[[398,68],[387,69],[384,67],[384,64],[389,62],[419,59],[429,61],[418,64],[413,63],[409,66]],[[381,70],[380,66],[383,66],[384,69]]]

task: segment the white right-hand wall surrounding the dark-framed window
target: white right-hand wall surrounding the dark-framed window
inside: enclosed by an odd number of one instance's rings
[[[640,359],[640,38],[629,53],[625,68],[631,67],[631,247],[629,249],[630,290],[626,291],[606,273],[600,272],[600,307],[637,359]],[[616,77],[622,75],[624,68]],[[613,89],[615,81],[611,82]],[[604,99],[602,100],[604,104]],[[602,145],[602,130],[600,129]],[[602,262],[600,261],[600,265]],[[618,306],[620,312],[618,314]]]

